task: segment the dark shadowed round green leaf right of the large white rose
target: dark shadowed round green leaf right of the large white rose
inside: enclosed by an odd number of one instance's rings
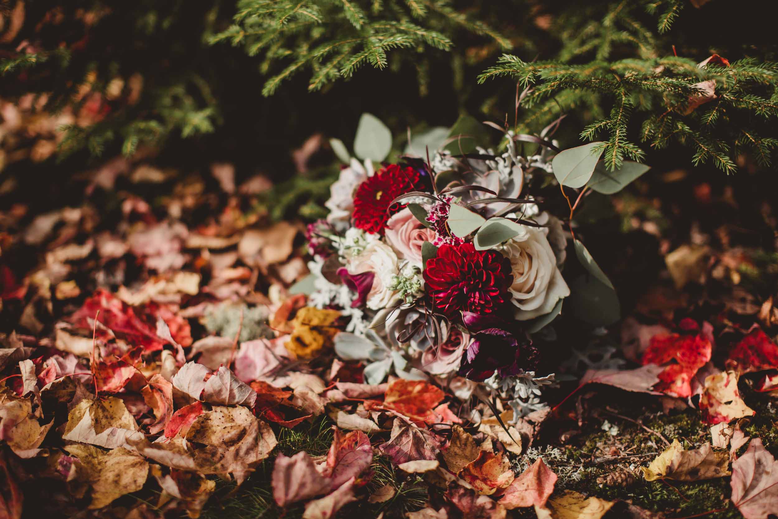
[[[594,326],[608,326],[621,318],[616,291],[588,273],[570,283],[566,308],[581,321]]]

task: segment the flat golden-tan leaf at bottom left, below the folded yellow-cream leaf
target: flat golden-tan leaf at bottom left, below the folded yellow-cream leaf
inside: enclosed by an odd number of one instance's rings
[[[149,463],[121,447],[105,452],[92,445],[74,444],[66,446],[65,450],[79,458],[68,479],[92,486],[90,509],[105,507],[117,497],[137,492],[149,475]]]

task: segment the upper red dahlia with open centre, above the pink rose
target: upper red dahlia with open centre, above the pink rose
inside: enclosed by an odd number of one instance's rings
[[[354,226],[368,233],[384,233],[387,220],[405,204],[389,205],[394,198],[410,191],[422,191],[419,172],[412,167],[390,164],[359,184],[354,195]]]

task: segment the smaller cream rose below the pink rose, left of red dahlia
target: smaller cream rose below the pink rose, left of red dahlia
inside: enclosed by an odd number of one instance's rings
[[[389,287],[392,279],[398,273],[397,254],[382,241],[373,241],[357,256],[349,260],[347,265],[350,274],[373,272],[373,286],[367,294],[366,305],[372,310],[388,307],[397,299],[398,293]]]

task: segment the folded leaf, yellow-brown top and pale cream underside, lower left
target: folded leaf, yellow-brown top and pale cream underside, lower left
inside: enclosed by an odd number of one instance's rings
[[[121,398],[85,398],[70,410],[62,438],[113,449],[128,447],[143,433]]]

